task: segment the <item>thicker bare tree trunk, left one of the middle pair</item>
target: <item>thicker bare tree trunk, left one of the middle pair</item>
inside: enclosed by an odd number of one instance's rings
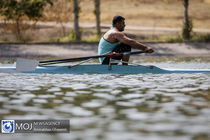
[[[74,0],[74,32],[76,35],[76,40],[81,40],[80,28],[79,28],[79,5],[78,0]]]

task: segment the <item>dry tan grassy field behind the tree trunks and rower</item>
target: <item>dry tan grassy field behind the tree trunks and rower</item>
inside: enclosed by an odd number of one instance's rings
[[[15,20],[1,14],[1,41],[75,40],[73,0],[29,1],[45,2],[41,7],[42,16],[30,18],[27,14],[23,15],[21,38],[18,38]],[[53,5],[50,4],[51,2]],[[95,0],[78,1],[79,31],[82,40],[85,41],[99,39],[96,31],[95,2]],[[101,32],[108,30],[114,15],[122,15],[126,18],[126,33],[130,37],[141,41],[183,41],[181,37],[184,23],[183,2],[184,0],[100,0]],[[189,0],[189,18],[193,27],[191,40],[209,41],[209,8],[210,0]],[[173,30],[165,30],[165,28]]]

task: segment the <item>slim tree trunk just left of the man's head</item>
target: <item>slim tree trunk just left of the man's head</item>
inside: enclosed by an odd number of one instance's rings
[[[98,37],[101,36],[101,27],[100,27],[100,0],[94,0],[95,2],[95,16],[96,16],[96,29]]]

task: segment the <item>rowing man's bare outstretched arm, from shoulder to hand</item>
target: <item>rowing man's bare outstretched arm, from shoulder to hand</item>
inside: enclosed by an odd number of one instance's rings
[[[127,44],[127,45],[131,46],[134,49],[144,50],[144,51],[147,51],[149,53],[153,52],[153,50],[151,48],[147,47],[144,44],[141,44],[141,43],[137,42],[134,39],[128,38],[123,33],[116,33],[115,34],[115,38],[117,40],[119,40],[121,43]]]

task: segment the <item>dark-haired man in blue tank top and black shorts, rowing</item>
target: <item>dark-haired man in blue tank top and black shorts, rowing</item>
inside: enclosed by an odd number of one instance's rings
[[[98,55],[107,54],[110,52],[123,53],[130,52],[131,48],[143,50],[147,53],[152,53],[153,49],[137,42],[134,39],[127,37],[123,31],[125,29],[125,18],[122,16],[115,16],[112,20],[112,28],[107,31],[101,38],[98,45]],[[118,56],[113,59],[122,60],[123,65],[128,65],[130,55]],[[109,57],[99,58],[101,64],[109,64]]]

